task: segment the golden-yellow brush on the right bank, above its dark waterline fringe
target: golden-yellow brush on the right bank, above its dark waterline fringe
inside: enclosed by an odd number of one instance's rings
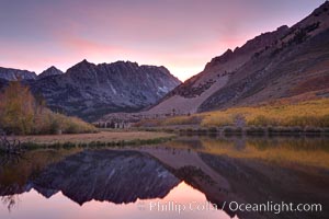
[[[329,99],[304,102],[276,101],[259,106],[231,107],[192,116],[177,116],[154,125],[189,125],[203,127],[237,126],[329,127]]]

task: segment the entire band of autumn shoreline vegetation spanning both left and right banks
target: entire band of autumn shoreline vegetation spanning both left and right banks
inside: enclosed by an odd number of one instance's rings
[[[140,120],[131,129],[98,129],[54,113],[20,81],[0,94],[0,130],[15,134],[25,150],[160,143],[179,135],[329,136],[329,99],[276,101],[259,106]]]

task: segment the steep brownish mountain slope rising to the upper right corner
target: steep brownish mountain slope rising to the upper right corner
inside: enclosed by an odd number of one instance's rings
[[[329,2],[292,27],[283,25],[227,49],[145,114],[190,114],[329,91]],[[311,83],[310,83],[311,82]]]

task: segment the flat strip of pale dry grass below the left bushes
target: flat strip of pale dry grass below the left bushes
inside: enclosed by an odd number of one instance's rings
[[[100,131],[95,134],[65,134],[65,135],[43,135],[43,136],[19,136],[22,142],[33,142],[36,145],[54,143],[90,143],[90,142],[112,142],[112,141],[132,141],[148,140],[158,138],[170,138],[171,134],[150,132],[150,131]]]

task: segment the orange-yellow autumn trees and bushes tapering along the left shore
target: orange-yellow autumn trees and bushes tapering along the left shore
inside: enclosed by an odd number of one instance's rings
[[[92,125],[79,118],[53,113],[20,81],[10,82],[0,93],[0,128],[18,135],[94,131]]]

